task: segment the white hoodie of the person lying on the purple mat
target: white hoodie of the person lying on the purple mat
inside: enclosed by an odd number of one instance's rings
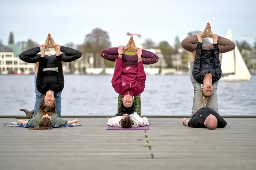
[[[132,127],[140,127],[140,126],[147,126],[149,125],[149,121],[146,117],[140,117],[136,112],[133,114],[130,114],[132,118],[133,125]],[[116,117],[111,117],[108,120],[108,126],[113,126],[113,127],[121,127],[121,120],[123,116],[116,116]]]

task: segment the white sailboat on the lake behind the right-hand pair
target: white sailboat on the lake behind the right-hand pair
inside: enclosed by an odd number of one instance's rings
[[[231,29],[227,31],[227,39],[232,41]],[[237,46],[234,50],[221,54],[221,81],[249,81],[251,73],[246,67]]]

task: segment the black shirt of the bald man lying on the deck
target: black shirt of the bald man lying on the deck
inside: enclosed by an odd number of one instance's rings
[[[208,108],[208,107],[202,107],[199,109],[189,120],[188,126],[189,127],[198,127],[198,128],[207,128],[204,126],[204,121],[209,116],[212,114],[217,118],[218,125],[217,128],[225,127],[227,125],[227,122],[214,110]]]

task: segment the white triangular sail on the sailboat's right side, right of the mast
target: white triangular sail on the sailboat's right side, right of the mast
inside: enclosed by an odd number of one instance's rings
[[[239,52],[237,46],[235,47],[234,51],[235,51],[235,75],[249,80],[251,78],[251,73],[249,72],[247,66],[245,65],[243,57]]]

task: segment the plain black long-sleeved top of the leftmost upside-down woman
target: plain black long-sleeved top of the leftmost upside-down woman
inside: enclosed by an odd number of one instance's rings
[[[47,91],[52,90],[54,93],[58,93],[64,88],[64,75],[62,70],[61,56],[56,56],[57,59],[57,71],[44,71],[43,68],[46,64],[44,57],[39,59],[39,67],[36,77],[36,88],[40,93],[45,94]]]

